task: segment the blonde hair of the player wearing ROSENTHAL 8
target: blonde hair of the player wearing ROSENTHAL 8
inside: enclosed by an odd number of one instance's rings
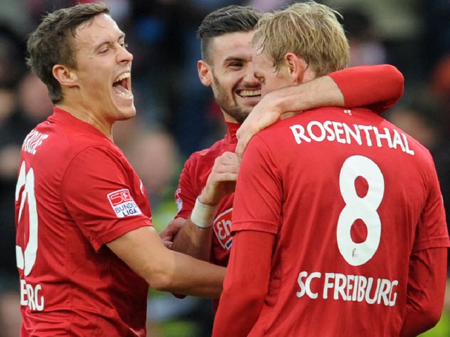
[[[338,21],[338,11],[314,1],[265,13],[253,45],[261,47],[278,71],[286,53],[304,58],[317,77],[347,67],[349,44]]]

